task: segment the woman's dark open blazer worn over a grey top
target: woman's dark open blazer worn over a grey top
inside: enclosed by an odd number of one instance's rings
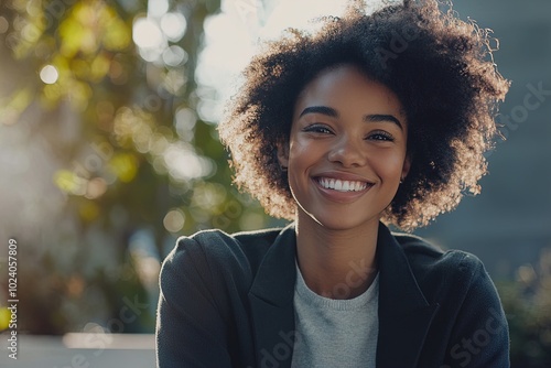
[[[158,365],[290,367],[295,248],[293,225],[180,238],[160,277]],[[377,257],[377,367],[509,367],[507,321],[476,257],[382,224]]]

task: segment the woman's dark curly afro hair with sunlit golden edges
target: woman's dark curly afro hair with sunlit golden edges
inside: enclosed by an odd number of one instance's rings
[[[494,118],[509,88],[493,62],[489,31],[435,0],[406,0],[369,15],[356,2],[342,18],[318,22],[317,32],[290,29],[266,43],[244,71],[218,128],[238,186],[270,215],[294,219],[278,143],[289,140],[306,84],[354,64],[395,91],[408,119],[411,169],[381,220],[411,231],[454,209],[466,193],[478,194],[483,154],[498,134]]]

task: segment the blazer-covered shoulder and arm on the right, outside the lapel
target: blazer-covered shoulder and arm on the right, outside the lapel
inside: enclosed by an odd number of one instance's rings
[[[441,367],[509,367],[507,318],[483,262],[466,251],[443,251],[420,237],[395,237],[428,303],[439,306],[428,344],[445,345]]]

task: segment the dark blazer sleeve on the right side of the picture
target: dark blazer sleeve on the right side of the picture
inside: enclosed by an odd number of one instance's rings
[[[472,255],[466,260],[460,268],[468,270],[472,283],[440,368],[508,368],[509,329],[499,295],[483,263]]]

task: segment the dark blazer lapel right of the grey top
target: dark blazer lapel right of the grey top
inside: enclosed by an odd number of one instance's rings
[[[377,367],[415,367],[439,305],[430,305],[410,269],[406,253],[380,224],[379,338]]]

